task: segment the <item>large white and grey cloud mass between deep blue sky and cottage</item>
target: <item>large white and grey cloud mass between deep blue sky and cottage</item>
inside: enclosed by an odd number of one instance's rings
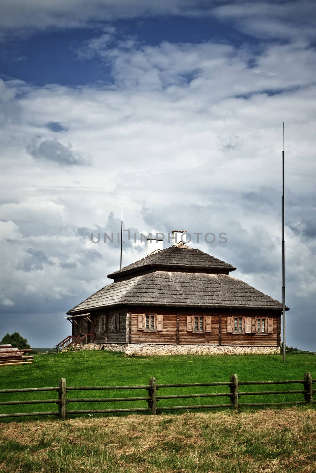
[[[312,307],[315,291],[314,50],[300,42],[262,45],[259,54],[214,43],[136,41],[127,53],[111,35],[110,51],[104,38],[85,44],[89,54],[111,61],[111,87],[1,83],[7,118],[0,131],[0,300],[23,314],[60,314],[110,282],[119,245],[94,245],[89,237],[119,231],[121,202],[126,228],[226,232],[226,245],[192,245],[280,298],[285,121],[287,303],[296,307],[289,327],[295,343],[297,301]],[[47,123],[60,123],[58,142],[91,156],[93,165],[61,168],[31,158],[29,143],[56,137]],[[140,256],[138,247],[124,247],[123,263]]]

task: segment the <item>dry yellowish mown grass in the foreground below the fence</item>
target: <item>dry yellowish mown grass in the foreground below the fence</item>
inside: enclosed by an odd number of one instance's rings
[[[0,471],[316,472],[316,410],[0,424]]]

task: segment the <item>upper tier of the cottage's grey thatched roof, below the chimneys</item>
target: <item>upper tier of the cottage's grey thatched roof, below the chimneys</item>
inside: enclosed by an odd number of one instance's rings
[[[144,272],[151,268],[168,269],[170,271],[184,269],[226,273],[236,269],[231,264],[218,260],[210,254],[190,248],[190,246],[184,243],[178,243],[164,250],[156,250],[145,258],[129,264],[119,271],[108,274],[108,278],[118,279],[128,274]]]

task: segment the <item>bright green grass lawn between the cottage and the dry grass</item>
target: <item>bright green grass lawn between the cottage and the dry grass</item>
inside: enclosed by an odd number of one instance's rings
[[[316,356],[288,354],[286,363],[281,355],[244,356],[148,356],[131,357],[108,351],[78,351],[51,355],[34,355],[32,365],[1,368],[0,389],[58,386],[61,377],[68,386],[146,385],[151,376],[158,384],[203,383],[230,381],[236,373],[239,381],[272,381],[303,379],[310,371],[316,378]],[[239,391],[294,390],[302,385],[240,386]],[[229,392],[229,386],[161,388],[157,395]],[[71,391],[68,397],[136,397],[145,390]],[[0,401],[55,399],[56,392],[0,394]],[[240,403],[286,402],[303,400],[303,394],[244,396]],[[159,406],[229,403],[228,397],[160,400]],[[145,401],[122,403],[69,403],[69,410],[117,409],[146,407]],[[56,411],[56,404],[0,406],[0,413]],[[104,415],[104,414],[103,414]],[[19,418],[1,419],[2,422]],[[21,418],[23,420],[23,418]]]

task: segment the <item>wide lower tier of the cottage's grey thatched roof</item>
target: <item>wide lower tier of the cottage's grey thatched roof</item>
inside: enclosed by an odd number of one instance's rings
[[[155,271],[113,282],[67,314],[118,305],[282,310],[279,301],[228,274]]]

